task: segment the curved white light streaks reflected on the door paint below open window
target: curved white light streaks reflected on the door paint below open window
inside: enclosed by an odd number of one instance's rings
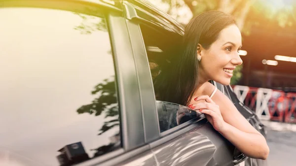
[[[191,132],[154,148],[153,153],[160,166],[206,166],[215,149],[206,136]]]

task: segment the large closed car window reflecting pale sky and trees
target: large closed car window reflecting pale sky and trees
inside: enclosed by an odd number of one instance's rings
[[[0,22],[0,165],[69,166],[120,148],[104,17],[19,7],[0,8]]]

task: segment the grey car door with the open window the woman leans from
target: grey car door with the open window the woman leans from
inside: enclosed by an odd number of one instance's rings
[[[155,64],[174,53],[178,46],[174,42],[182,38],[182,28],[161,17],[161,12],[148,4],[145,7],[136,2],[123,4],[141,90],[145,142],[149,143],[157,164],[233,166],[234,146],[213,129],[203,114],[155,100],[152,83],[158,73]],[[139,40],[139,36],[143,39]]]

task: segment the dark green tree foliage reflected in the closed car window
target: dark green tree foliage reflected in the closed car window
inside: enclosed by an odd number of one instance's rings
[[[86,15],[80,12],[74,12],[74,14],[81,18],[80,25],[75,26],[74,30],[80,31],[81,34],[91,34],[95,31],[107,32],[105,19],[96,16],[97,13],[101,12],[100,10],[86,7],[84,8],[84,12],[88,14]],[[111,54],[111,50],[109,53]],[[105,119],[108,117],[113,117],[113,119],[104,122],[104,125],[99,130],[99,135],[101,135],[102,133],[105,133],[113,127],[119,125],[119,112],[115,92],[114,75],[111,76],[111,78],[105,79],[102,83],[96,85],[91,94],[96,96],[92,103],[80,106],[76,112],[78,114],[94,114],[95,116],[99,116],[104,112]]]

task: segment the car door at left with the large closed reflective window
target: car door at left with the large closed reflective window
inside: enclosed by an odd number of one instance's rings
[[[122,4],[0,3],[0,165],[156,166]]]

